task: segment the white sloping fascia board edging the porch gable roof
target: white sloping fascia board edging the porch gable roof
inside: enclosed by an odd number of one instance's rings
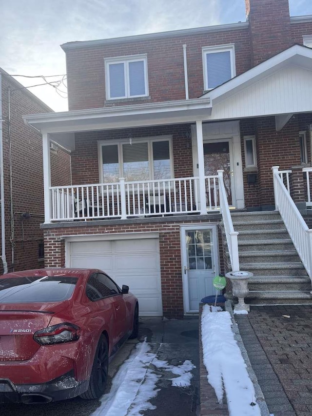
[[[303,59],[300,59],[303,58]],[[216,102],[216,99],[225,94],[234,94],[238,88],[245,88],[250,83],[255,82],[258,79],[265,78],[276,72],[279,68],[283,67],[287,63],[300,64],[303,62],[309,62],[309,66],[312,67],[312,49],[301,45],[293,45],[285,51],[267,59],[264,62],[254,66],[237,77],[230,79],[228,82],[216,87],[214,90],[206,93],[202,97],[211,99],[212,105]],[[303,65],[302,65],[303,66]],[[307,65],[306,65],[307,66]]]

